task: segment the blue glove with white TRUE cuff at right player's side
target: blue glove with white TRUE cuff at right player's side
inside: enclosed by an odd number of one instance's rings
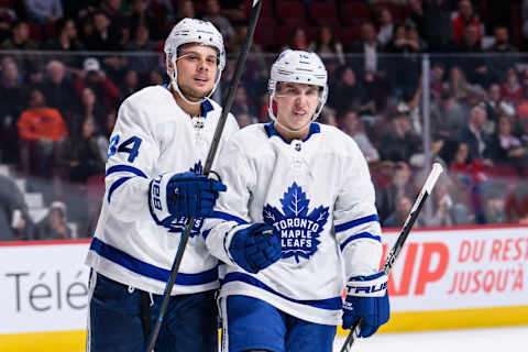
[[[369,338],[388,321],[391,309],[385,273],[354,276],[346,283],[346,299],[343,304],[343,329],[350,329],[363,318],[360,337]]]

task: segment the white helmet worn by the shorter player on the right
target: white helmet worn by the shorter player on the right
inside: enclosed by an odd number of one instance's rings
[[[308,53],[302,51],[293,51],[286,50],[272,66],[272,73],[270,77],[270,81],[267,85],[268,94],[270,94],[270,107],[268,113],[272,120],[275,122],[277,118],[273,112],[273,97],[275,96],[277,84],[278,82],[292,82],[292,84],[305,84],[305,85],[314,85],[321,87],[321,94],[319,96],[319,103],[316,108],[314,117],[311,118],[311,122],[314,122],[317,117],[321,113],[322,107],[327,102],[328,97],[328,74],[327,69],[324,68],[324,64],[322,63],[319,55],[316,53]],[[299,131],[308,128],[309,124]],[[284,129],[286,129],[283,125]],[[286,129],[288,130],[288,129]],[[288,130],[290,131],[290,130]],[[297,131],[290,131],[297,132]]]

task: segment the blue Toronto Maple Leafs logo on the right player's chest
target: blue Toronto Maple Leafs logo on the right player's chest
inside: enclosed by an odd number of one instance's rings
[[[262,211],[264,222],[280,232],[283,258],[293,256],[308,260],[317,252],[320,233],[328,220],[328,207],[309,210],[310,200],[302,188],[294,183],[280,199],[282,211],[266,205]]]

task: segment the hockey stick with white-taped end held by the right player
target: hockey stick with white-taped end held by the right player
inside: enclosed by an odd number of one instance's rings
[[[398,257],[398,254],[402,251],[402,248],[404,246],[405,240],[407,240],[407,237],[409,235],[410,229],[413,229],[413,226],[415,224],[415,221],[418,218],[418,215],[420,213],[421,208],[424,207],[427,198],[431,194],[432,187],[435,187],[435,184],[437,183],[438,177],[442,172],[443,172],[443,168],[439,163],[435,163],[432,165],[432,169],[429,173],[429,176],[427,177],[426,183],[424,184],[424,187],[421,187],[420,194],[418,195],[418,198],[416,199],[415,205],[413,206],[413,209],[410,209],[410,212],[407,216],[407,219],[405,219],[404,227],[399,232],[398,239],[396,240],[396,243],[391,250],[391,253],[388,254],[387,260],[385,261],[385,265],[383,265],[383,271],[385,272],[385,274],[388,275],[388,273],[393,268],[394,262]],[[361,331],[361,323],[363,322],[362,320],[363,319],[361,318],[358,319],[358,321],[350,329],[349,336],[346,337],[346,340],[344,341],[344,344],[341,348],[341,352],[352,351],[352,344],[354,343],[354,341],[356,340]]]

